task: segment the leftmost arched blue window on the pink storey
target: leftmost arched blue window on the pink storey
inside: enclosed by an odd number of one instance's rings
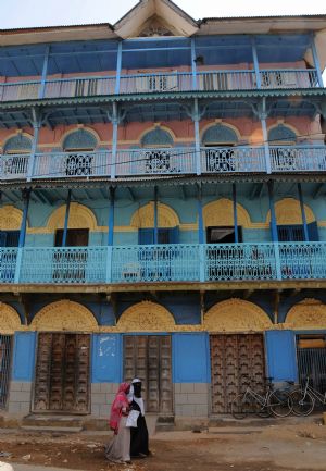
[[[3,172],[7,175],[25,177],[30,150],[32,139],[29,137],[21,133],[10,137],[3,146],[3,153],[8,156],[4,160]]]

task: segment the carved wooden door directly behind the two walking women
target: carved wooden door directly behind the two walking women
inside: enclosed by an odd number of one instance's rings
[[[124,379],[142,381],[146,410],[172,413],[172,367],[170,335],[126,335]]]

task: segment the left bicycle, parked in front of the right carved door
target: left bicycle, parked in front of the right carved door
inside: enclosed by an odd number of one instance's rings
[[[266,377],[266,393],[259,394],[250,386],[244,394],[239,394],[231,402],[231,414],[235,419],[244,419],[249,413],[262,418],[287,417],[292,411],[290,395],[285,389],[274,389],[272,377]]]

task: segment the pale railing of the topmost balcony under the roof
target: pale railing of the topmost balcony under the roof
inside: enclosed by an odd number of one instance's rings
[[[279,69],[260,71],[262,89],[319,87],[314,69]],[[37,98],[93,97],[115,94],[160,94],[175,91],[226,91],[256,89],[255,72],[250,70],[161,72],[68,78],[48,78],[0,83],[0,101]]]

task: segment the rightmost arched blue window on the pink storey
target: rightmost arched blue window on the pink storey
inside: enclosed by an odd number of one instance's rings
[[[297,149],[292,147],[296,142],[297,134],[284,124],[268,131],[272,165],[276,171],[304,170]]]

